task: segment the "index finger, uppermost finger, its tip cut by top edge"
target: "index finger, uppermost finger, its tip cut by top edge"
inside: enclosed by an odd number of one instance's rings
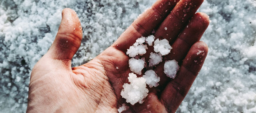
[[[179,1],[158,0],[125,30],[112,47],[126,52],[138,38],[152,34],[152,31],[158,28]]]

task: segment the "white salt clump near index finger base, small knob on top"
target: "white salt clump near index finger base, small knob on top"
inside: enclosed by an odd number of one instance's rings
[[[126,54],[130,57],[134,57],[136,55],[144,55],[148,47],[143,43],[145,43],[145,37],[137,39],[136,42],[127,50]]]

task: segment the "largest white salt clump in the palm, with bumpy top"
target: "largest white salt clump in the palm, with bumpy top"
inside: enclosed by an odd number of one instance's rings
[[[135,103],[143,103],[143,99],[148,95],[149,90],[146,88],[146,79],[137,77],[134,73],[129,73],[128,80],[130,84],[123,85],[121,96],[126,99],[126,102],[134,105]]]

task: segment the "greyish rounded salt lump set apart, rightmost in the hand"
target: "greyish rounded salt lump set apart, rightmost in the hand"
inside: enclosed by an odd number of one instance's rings
[[[178,62],[174,60],[169,60],[165,62],[164,72],[170,78],[175,78],[177,71],[180,69]]]

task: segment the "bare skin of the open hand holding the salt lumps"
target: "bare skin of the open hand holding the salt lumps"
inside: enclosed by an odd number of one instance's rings
[[[174,113],[208,52],[207,45],[199,41],[209,25],[208,16],[195,14],[202,2],[158,0],[113,45],[78,67],[71,67],[71,59],[80,47],[82,29],[76,13],[64,9],[56,39],[32,70],[27,113],[116,113],[123,103],[129,106],[123,113]],[[154,70],[160,76],[159,85],[149,88],[144,103],[131,105],[120,95],[122,85],[128,83],[128,74],[132,72],[126,51],[136,39],[151,35],[153,30],[156,30],[156,39],[167,39],[173,47],[163,59],[177,60],[180,70],[177,77],[171,79],[163,71],[164,61],[158,64]],[[152,46],[148,48],[142,56],[146,61],[154,51]]]

